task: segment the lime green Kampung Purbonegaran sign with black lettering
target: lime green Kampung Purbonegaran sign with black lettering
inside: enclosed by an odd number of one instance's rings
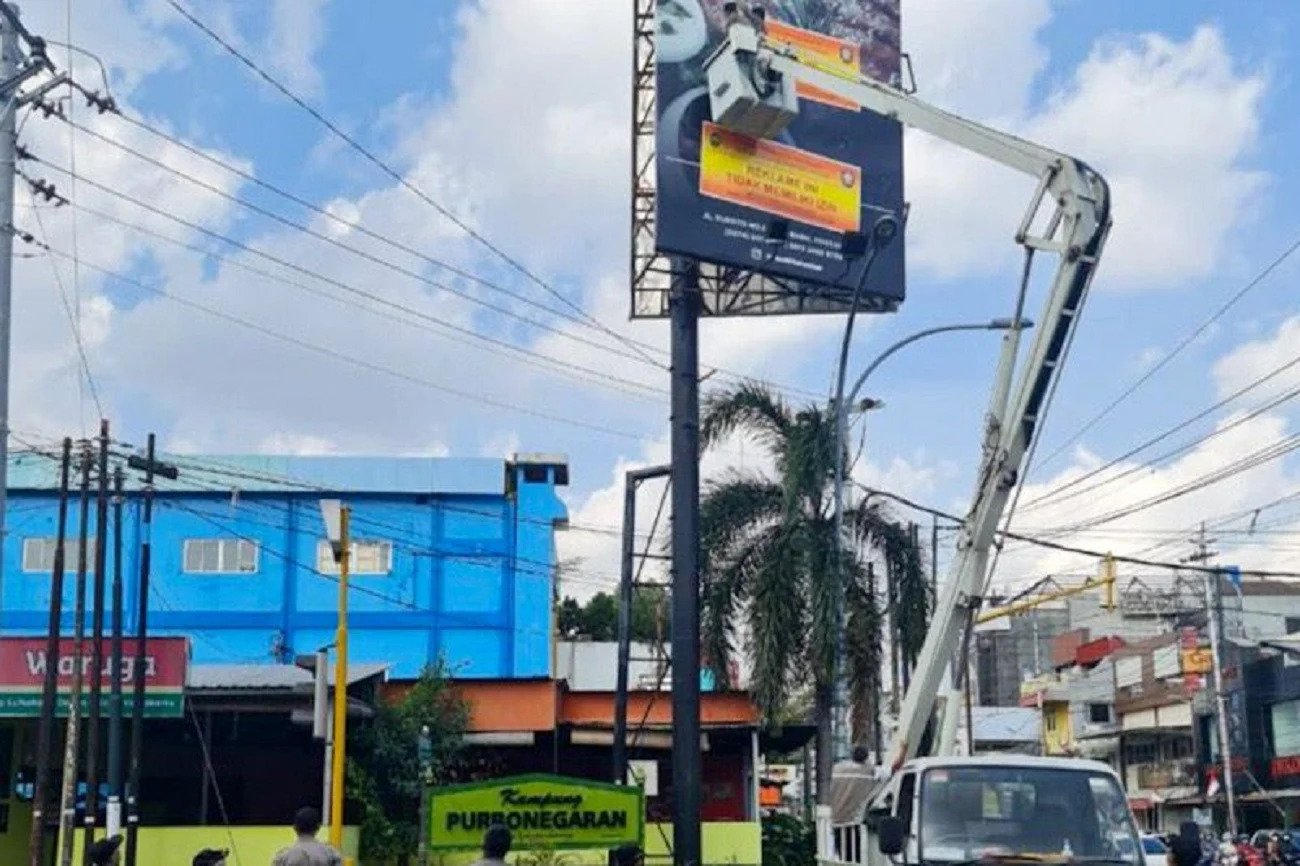
[[[429,848],[474,850],[493,824],[508,827],[514,848],[582,849],[641,844],[641,788],[586,779],[529,775],[434,788]]]

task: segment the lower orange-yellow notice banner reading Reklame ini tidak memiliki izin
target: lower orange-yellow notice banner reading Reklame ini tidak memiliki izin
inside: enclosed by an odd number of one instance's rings
[[[705,124],[699,192],[831,231],[862,221],[862,169]]]

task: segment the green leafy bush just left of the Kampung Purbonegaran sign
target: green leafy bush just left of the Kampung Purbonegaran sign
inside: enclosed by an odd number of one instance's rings
[[[458,770],[469,707],[451,688],[439,662],[424,671],[395,703],[381,703],[348,737],[347,796],[360,810],[363,862],[406,866],[417,853],[421,767],[420,729],[433,744],[432,781]]]

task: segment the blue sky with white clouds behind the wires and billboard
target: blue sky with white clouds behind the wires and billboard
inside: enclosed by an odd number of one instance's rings
[[[36,156],[21,169],[73,204],[20,183],[14,224],[52,252],[20,243],[14,263],[16,447],[103,413],[172,451],[563,453],[567,589],[614,583],[623,473],[668,451],[667,371],[642,356],[663,361],[667,326],[628,319],[625,1],[187,4],[374,161],[168,0],[26,7],[35,33],[103,60],[127,120],[81,99],[66,111],[83,130],[20,120]],[[1013,527],[1171,562],[1204,521],[1222,562],[1300,572],[1300,364],[1283,367],[1300,351],[1300,8],[902,0],[902,40],[923,99],[1112,183],[1109,247]],[[51,51],[103,88],[86,56]],[[907,299],[859,322],[853,369],[1014,302],[1032,183],[922,134],[905,165]],[[1039,280],[1031,315],[1041,300]],[[708,385],[824,399],[842,326],[706,321]],[[881,367],[854,477],[965,512],[997,348],[936,337]],[[744,440],[703,462],[706,482],[736,468],[771,464]],[[646,528],[656,490],[644,499]],[[996,580],[1096,568],[1009,544]]]

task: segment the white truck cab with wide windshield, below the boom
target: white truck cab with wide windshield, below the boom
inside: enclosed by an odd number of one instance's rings
[[[1119,778],[1096,761],[916,758],[876,794],[866,823],[871,866],[1143,866]]]

